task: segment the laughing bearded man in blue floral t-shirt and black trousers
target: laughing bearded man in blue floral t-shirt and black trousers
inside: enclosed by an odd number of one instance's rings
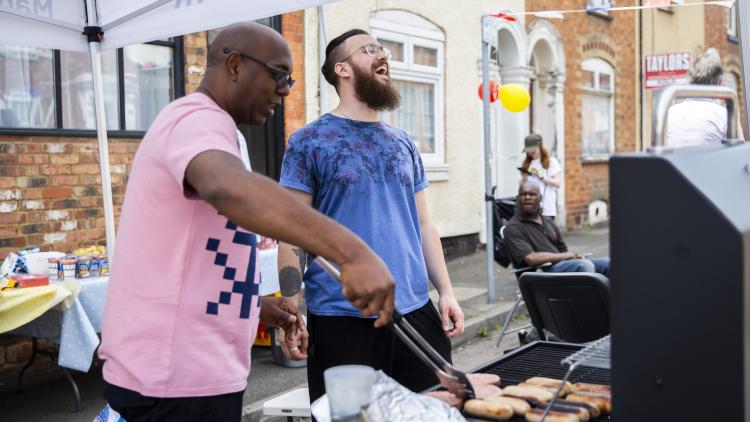
[[[358,29],[328,44],[322,71],[340,103],[291,136],[280,183],[349,228],[385,261],[396,280],[399,311],[450,360],[448,337],[463,332],[464,316],[430,221],[419,151],[406,132],[380,118],[381,111],[395,109],[400,101],[389,59],[388,49]],[[300,291],[305,262],[302,250],[280,246],[279,282],[285,296]],[[428,280],[440,294],[437,311],[427,295]],[[382,369],[415,391],[438,383],[389,330],[362,318],[318,265],[307,267],[304,282],[311,400],[325,393],[323,371],[336,365]]]

